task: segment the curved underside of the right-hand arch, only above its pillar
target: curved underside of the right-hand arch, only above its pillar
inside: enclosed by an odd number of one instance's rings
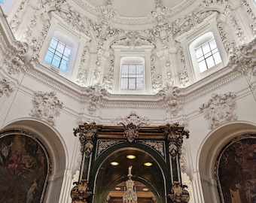
[[[200,172],[201,177],[213,177],[213,168],[215,160],[223,147],[238,135],[255,133],[256,123],[245,121],[235,121],[224,124],[209,132],[206,138],[200,145],[200,150],[197,153],[197,171]]]

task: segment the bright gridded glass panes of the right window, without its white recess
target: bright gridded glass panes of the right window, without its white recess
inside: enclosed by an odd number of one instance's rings
[[[203,44],[195,52],[201,73],[221,62],[221,55],[218,52],[215,39]]]

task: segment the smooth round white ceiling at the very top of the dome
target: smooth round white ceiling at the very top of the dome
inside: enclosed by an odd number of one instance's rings
[[[126,30],[152,28],[184,15],[196,0],[67,0],[81,14],[94,21]]]

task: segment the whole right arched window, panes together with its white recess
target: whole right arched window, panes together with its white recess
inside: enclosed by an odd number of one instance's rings
[[[203,73],[222,62],[212,32],[207,32],[194,40],[190,44],[189,49],[195,72]]]

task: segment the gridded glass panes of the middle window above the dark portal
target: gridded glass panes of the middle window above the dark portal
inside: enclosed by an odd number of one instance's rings
[[[143,64],[122,64],[120,89],[144,89]]]

